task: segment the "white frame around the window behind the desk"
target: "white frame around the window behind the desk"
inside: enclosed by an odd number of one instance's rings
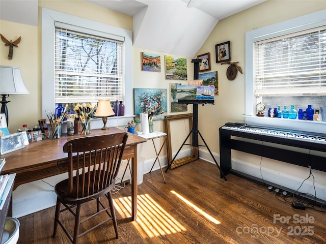
[[[128,29],[100,23],[54,10],[42,8],[42,116],[54,110],[55,104],[55,22],[83,26],[95,32],[124,38],[124,101],[125,116],[132,116],[132,32]]]

